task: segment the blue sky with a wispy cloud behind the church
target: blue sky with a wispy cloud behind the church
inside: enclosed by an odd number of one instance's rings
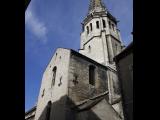
[[[120,22],[122,41],[132,41],[133,1],[103,0]],[[57,47],[80,47],[89,0],[31,0],[25,13],[25,111],[38,99],[43,72]]]

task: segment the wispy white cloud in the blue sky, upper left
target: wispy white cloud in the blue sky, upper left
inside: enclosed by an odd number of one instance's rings
[[[38,38],[38,40],[46,43],[47,41],[47,28],[44,22],[40,21],[31,9],[26,11],[25,26]]]

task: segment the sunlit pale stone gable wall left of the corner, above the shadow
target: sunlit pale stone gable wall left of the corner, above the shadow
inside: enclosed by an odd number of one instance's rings
[[[37,111],[35,120],[43,113],[45,116],[45,107],[49,101],[58,101],[62,96],[68,94],[68,68],[70,59],[70,50],[58,48],[44,71],[41,88],[38,97]],[[55,83],[52,86],[53,68],[57,67]]]

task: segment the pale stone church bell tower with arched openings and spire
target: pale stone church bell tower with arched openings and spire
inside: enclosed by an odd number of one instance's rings
[[[79,53],[106,66],[114,66],[113,58],[123,45],[117,20],[102,0],[90,0],[88,14],[82,22]]]

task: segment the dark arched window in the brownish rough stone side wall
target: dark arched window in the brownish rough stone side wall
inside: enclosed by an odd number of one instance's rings
[[[89,66],[89,84],[95,86],[95,67]]]

